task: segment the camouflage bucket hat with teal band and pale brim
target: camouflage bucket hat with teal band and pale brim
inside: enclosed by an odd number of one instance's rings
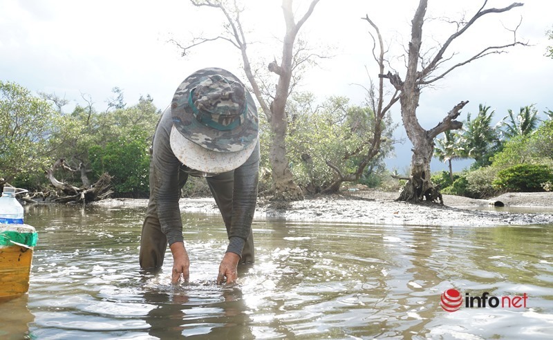
[[[192,169],[236,169],[257,144],[259,119],[252,95],[223,68],[189,75],[175,91],[171,116],[171,149]]]

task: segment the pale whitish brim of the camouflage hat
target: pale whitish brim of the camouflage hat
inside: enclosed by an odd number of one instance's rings
[[[171,149],[176,158],[187,167],[207,173],[223,173],[240,167],[250,158],[257,141],[236,152],[217,152],[191,142],[173,126],[170,136]]]

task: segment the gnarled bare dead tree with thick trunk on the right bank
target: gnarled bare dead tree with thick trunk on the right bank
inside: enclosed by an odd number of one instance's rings
[[[400,93],[400,105],[402,110],[402,122],[407,133],[407,137],[413,143],[413,155],[411,158],[411,176],[404,186],[398,200],[420,202],[427,195],[427,200],[433,200],[431,193],[435,192],[435,189],[430,180],[430,162],[434,150],[434,138],[440,133],[448,130],[455,130],[462,128],[462,122],[456,120],[461,109],[468,103],[468,101],[461,101],[451,108],[451,111],[443,118],[443,120],[434,126],[432,129],[426,130],[419,124],[417,117],[417,107],[420,100],[421,88],[438,82],[453,70],[465,66],[477,59],[486,57],[492,54],[504,53],[507,48],[514,46],[527,44],[518,41],[516,39],[516,30],[514,33],[514,41],[510,44],[504,44],[500,46],[488,46],[482,50],[476,52],[472,57],[465,59],[462,62],[453,64],[453,66],[445,67],[446,62],[450,62],[451,58],[444,57],[451,43],[455,41],[462,34],[467,32],[478,19],[489,15],[491,13],[503,13],[513,8],[523,6],[523,3],[512,3],[505,8],[487,8],[487,0],[483,1],[482,6],[478,9],[476,14],[472,16],[468,21],[455,22],[457,29],[443,44],[440,44],[440,48],[429,59],[425,59],[426,54],[422,53],[422,24],[424,23],[424,17],[427,12],[427,0],[420,0],[413,20],[411,21],[411,41],[407,50],[406,60],[406,74],[404,78],[397,73],[388,71],[384,73],[380,70],[379,77],[388,79],[390,84]],[[366,19],[369,23],[371,21]],[[371,23],[371,26],[376,29],[376,26]],[[421,67],[419,69],[419,66]],[[440,66],[445,70],[440,70]]]

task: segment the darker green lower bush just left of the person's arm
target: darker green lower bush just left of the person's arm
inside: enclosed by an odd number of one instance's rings
[[[149,191],[149,145],[140,129],[121,136],[104,147],[90,147],[91,168],[95,176],[107,172],[119,196],[144,195]]]

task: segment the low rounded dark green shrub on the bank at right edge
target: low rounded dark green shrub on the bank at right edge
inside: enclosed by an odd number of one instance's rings
[[[517,164],[497,173],[492,182],[503,191],[543,191],[542,184],[553,180],[553,169],[541,164]]]

